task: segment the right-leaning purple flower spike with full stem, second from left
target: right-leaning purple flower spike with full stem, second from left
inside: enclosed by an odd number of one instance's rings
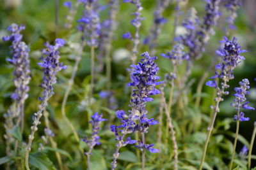
[[[65,44],[63,39],[57,38],[55,45],[50,45],[48,42],[45,43],[46,48],[42,50],[42,54],[45,56],[42,62],[39,62],[38,65],[43,68],[43,82],[40,85],[44,89],[42,92],[42,97],[39,97],[41,104],[39,106],[39,110],[37,113],[34,113],[33,125],[31,126],[31,134],[28,136],[28,145],[26,146],[26,168],[29,169],[28,165],[28,156],[31,150],[31,144],[34,139],[35,132],[38,130],[37,125],[40,124],[40,118],[43,115],[43,111],[47,106],[47,101],[54,94],[53,85],[56,83],[56,74],[61,69],[66,69],[67,66],[63,66],[62,63],[59,62],[60,52],[59,49],[61,46]]]

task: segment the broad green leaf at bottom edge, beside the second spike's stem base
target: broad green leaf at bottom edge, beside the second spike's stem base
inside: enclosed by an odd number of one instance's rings
[[[55,170],[56,168],[52,164],[51,160],[47,157],[45,153],[36,152],[30,153],[29,164],[37,167],[40,170]]]

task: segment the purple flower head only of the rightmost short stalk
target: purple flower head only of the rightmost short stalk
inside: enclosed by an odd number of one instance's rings
[[[250,89],[249,86],[250,82],[248,79],[244,78],[242,81],[239,82],[240,87],[236,87],[234,90],[236,91],[236,94],[234,96],[236,99],[233,100],[234,103],[231,103],[230,105],[236,108],[236,110],[240,110],[243,108],[244,110],[255,110],[254,108],[248,106],[249,102],[246,102],[246,95],[249,94],[247,91]],[[239,115],[234,116],[234,120],[237,120],[237,116],[239,118],[239,121],[248,121],[250,118],[244,117],[244,113],[240,112]]]

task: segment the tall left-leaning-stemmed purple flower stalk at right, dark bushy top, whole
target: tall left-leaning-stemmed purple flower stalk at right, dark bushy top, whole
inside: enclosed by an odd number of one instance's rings
[[[221,101],[223,101],[222,96],[228,95],[228,91],[225,91],[229,87],[227,83],[229,80],[234,79],[233,70],[236,68],[239,62],[241,62],[241,60],[244,60],[244,57],[241,56],[240,53],[246,52],[246,50],[241,50],[241,46],[237,43],[236,38],[229,41],[226,37],[224,37],[224,40],[220,42],[225,43],[225,46],[223,49],[217,50],[216,53],[221,56],[222,61],[215,66],[216,72],[215,75],[211,77],[212,80],[206,82],[207,86],[214,87],[216,89],[217,97],[214,99],[215,106],[211,106],[214,112],[211,117],[210,125],[207,128],[208,134],[205,140],[204,152],[199,169],[202,169],[204,164],[207,146],[214,128],[214,122],[216,120],[217,113],[220,112],[219,104]],[[218,78],[220,81],[222,80],[220,87],[216,83],[216,78]]]

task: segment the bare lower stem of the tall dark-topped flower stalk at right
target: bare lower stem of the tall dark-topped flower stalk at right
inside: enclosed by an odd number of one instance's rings
[[[217,98],[220,98],[220,96],[218,96]],[[206,138],[205,144],[204,144],[203,157],[201,159],[201,163],[200,163],[200,167],[199,167],[200,170],[202,170],[202,168],[203,168],[203,164],[204,164],[205,155],[206,155],[206,152],[207,152],[208,143],[209,143],[209,140],[210,140],[210,137],[211,137],[211,133],[212,133],[213,127],[214,127],[214,122],[215,122],[217,113],[220,110],[219,109],[219,104],[220,104],[220,99],[217,99],[216,106],[214,108],[214,113],[213,113],[212,118],[211,118],[211,123],[210,123],[210,126],[208,127],[208,134],[207,134],[207,138]]]

